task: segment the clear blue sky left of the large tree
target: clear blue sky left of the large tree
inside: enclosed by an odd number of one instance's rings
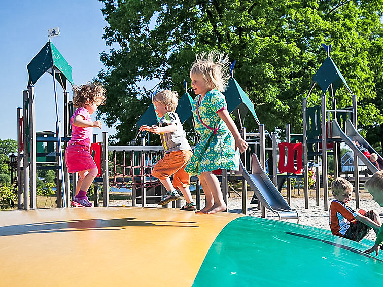
[[[72,66],[75,84],[83,84],[97,76],[103,67],[100,53],[109,51],[102,40],[107,26],[96,0],[5,1],[0,9],[0,139],[17,138],[17,107],[22,107],[22,91],[26,89],[26,66],[48,41],[48,29],[59,27],[60,35],[52,42]],[[68,85],[68,91],[72,91]],[[36,130],[55,130],[56,112],[53,80],[45,73],[36,83]],[[59,115],[63,121],[63,90],[57,85]],[[95,119],[94,116],[92,117]],[[114,128],[102,128],[111,135]],[[99,134],[99,129],[94,129]]]

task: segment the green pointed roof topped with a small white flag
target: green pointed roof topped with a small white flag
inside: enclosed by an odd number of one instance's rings
[[[28,86],[34,85],[45,72],[52,74],[53,68],[59,71],[56,73],[56,80],[64,90],[66,90],[66,80],[73,85],[72,67],[52,42],[47,42],[26,67],[29,74]]]

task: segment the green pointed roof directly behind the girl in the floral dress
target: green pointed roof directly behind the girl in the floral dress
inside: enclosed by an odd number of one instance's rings
[[[257,124],[259,124],[258,117],[254,110],[254,104],[234,78],[230,78],[224,95],[226,97],[227,110],[230,114],[233,113],[236,118],[239,118],[239,109],[240,119],[243,123],[246,114],[250,111]]]

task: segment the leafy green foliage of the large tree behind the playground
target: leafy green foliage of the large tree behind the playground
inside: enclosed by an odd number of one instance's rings
[[[326,58],[321,43],[333,46],[331,56],[361,103],[359,123],[374,130],[383,122],[375,104],[383,89],[383,0],[102,2],[108,22],[103,39],[113,48],[101,54],[107,68],[98,77],[108,97],[100,111],[107,125],[117,123],[120,143],[134,138],[135,123],[150,103],[151,91],[140,81],[158,79],[155,89],[182,94],[195,54],[210,50],[237,60],[235,78],[269,131],[290,123],[301,132],[302,99]],[[339,107],[351,105],[345,88],[335,98]],[[308,99],[318,103],[319,89]],[[256,128],[250,118],[245,126]]]

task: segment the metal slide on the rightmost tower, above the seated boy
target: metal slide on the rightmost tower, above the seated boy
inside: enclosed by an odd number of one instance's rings
[[[340,137],[344,140],[344,142],[353,150],[354,153],[358,155],[358,157],[361,159],[361,161],[364,162],[365,165],[367,165],[368,169],[375,173],[378,171],[376,166],[370,162],[368,158],[362,153],[361,150],[355,145],[353,141],[358,141],[360,145],[362,145],[364,148],[366,148],[371,154],[376,153],[378,155],[378,164],[380,167],[383,167],[383,158],[380,156],[379,153],[377,153],[363,138],[363,136],[360,135],[360,133],[355,129],[353,123],[350,120],[347,120],[345,122],[346,125],[346,133],[342,131],[340,128],[338,122],[336,120],[332,121],[332,137]]]

